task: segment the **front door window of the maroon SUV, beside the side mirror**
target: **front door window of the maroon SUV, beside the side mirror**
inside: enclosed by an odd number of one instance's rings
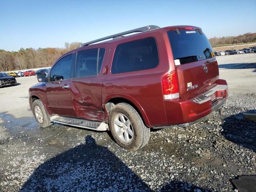
[[[50,81],[70,78],[72,54],[59,60],[51,70]]]

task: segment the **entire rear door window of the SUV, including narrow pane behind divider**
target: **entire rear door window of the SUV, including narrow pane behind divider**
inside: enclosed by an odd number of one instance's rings
[[[101,69],[105,49],[89,49],[77,52],[76,77],[96,76]],[[98,67],[97,67],[98,63]],[[97,73],[98,68],[98,73]]]

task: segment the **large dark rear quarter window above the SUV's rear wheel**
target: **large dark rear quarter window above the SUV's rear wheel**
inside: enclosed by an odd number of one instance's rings
[[[152,69],[158,66],[158,63],[159,57],[155,38],[144,38],[116,47],[111,73]]]

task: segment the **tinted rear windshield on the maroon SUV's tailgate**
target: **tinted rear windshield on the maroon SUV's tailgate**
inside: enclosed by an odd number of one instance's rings
[[[195,62],[214,57],[212,46],[204,33],[198,30],[168,31],[174,60],[180,64]]]

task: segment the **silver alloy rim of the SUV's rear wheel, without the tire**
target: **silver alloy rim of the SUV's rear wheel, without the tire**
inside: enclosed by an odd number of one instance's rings
[[[132,141],[134,137],[134,129],[130,120],[124,114],[116,114],[114,117],[114,129],[120,140],[125,143]]]

